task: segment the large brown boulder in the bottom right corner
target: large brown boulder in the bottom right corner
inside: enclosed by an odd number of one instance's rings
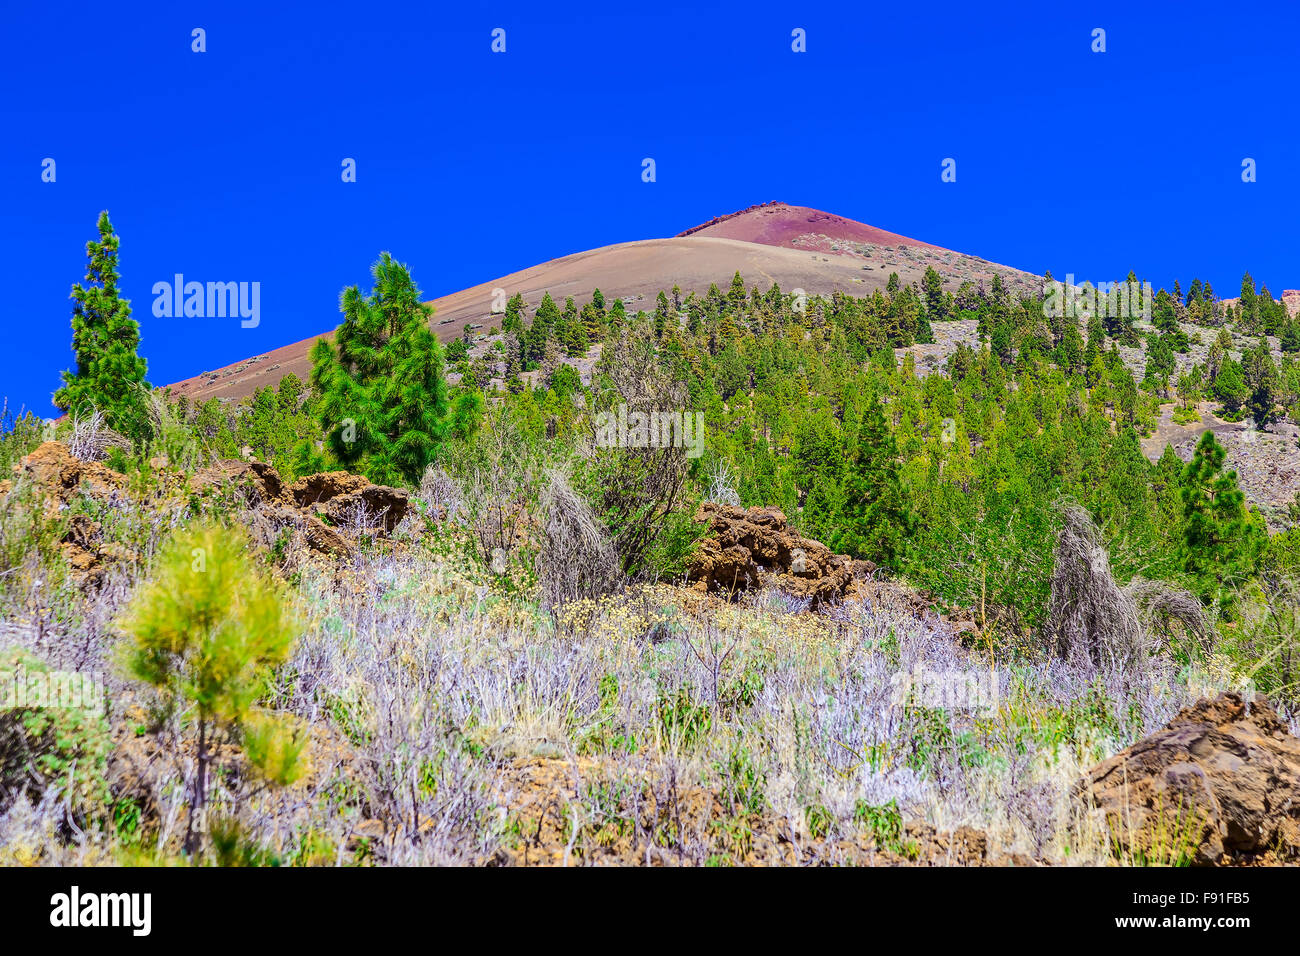
[[[1075,797],[1122,855],[1300,860],[1300,737],[1268,700],[1223,693],[1097,765]]]

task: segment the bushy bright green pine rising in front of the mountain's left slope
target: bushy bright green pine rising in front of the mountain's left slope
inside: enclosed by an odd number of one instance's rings
[[[447,382],[433,310],[406,265],[387,252],[374,290],[343,290],[334,342],[312,349],[312,385],[330,450],[376,483],[419,484],[446,436]]]

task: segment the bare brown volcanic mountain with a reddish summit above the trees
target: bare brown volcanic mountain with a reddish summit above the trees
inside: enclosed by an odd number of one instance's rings
[[[467,324],[488,329],[499,321],[491,312],[497,289],[506,295],[523,293],[529,311],[547,291],[563,307],[567,297],[581,306],[593,289],[599,289],[607,300],[621,298],[628,311],[636,312],[653,310],[659,290],[673,285],[682,295],[702,295],[714,282],[725,290],[736,272],[746,286],[767,289],[776,282],[785,291],[802,289],[810,295],[870,295],[885,286],[890,272],[904,282],[919,282],[927,267],[944,277],[950,291],[967,280],[989,282],[994,274],[1001,274],[1013,290],[1027,293],[1039,286],[1037,277],[1019,269],[842,216],[774,202],[720,216],[672,238],[620,242],[552,259],[430,304],[436,310],[434,330],[446,342],[459,337]],[[316,338],[174,382],[172,394],[191,401],[238,399],[263,385],[274,385],[290,372],[306,380]]]

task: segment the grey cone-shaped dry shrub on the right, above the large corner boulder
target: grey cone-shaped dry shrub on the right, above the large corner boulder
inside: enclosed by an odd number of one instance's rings
[[[1145,670],[1150,652],[1138,606],[1115,583],[1092,518],[1078,505],[1062,511],[1046,624],[1056,653],[1076,667]]]

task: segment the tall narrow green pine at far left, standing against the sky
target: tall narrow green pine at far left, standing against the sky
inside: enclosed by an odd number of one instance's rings
[[[118,237],[108,212],[99,215],[99,242],[86,243],[86,285],[73,286],[73,351],[77,371],[64,372],[55,405],[72,415],[98,408],[109,428],[129,438],[148,434],[146,363],[136,354],[140,326],[117,293]]]

